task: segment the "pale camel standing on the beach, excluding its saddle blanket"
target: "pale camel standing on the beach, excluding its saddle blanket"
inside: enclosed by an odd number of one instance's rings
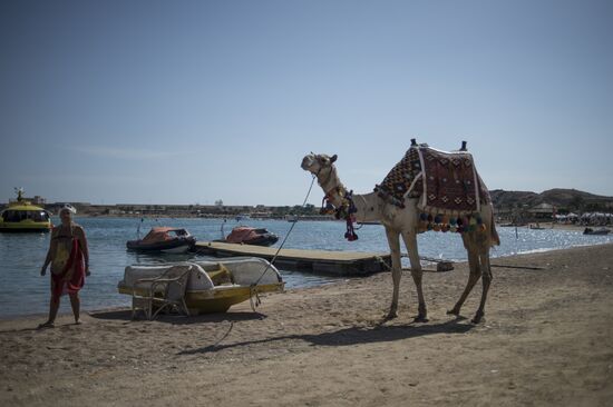
[[[411,147],[417,146],[415,139],[411,141]],[[465,150],[465,148],[466,142],[463,143],[463,149],[460,149],[460,151]],[[415,321],[428,321],[426,301],[424,300],[424,292],[421,289],[422,269],[417,247],[417,234],[422,231],[420,230],[421,210],[418,208],[419,199],[406,196],[402,207],[399,207],[398,205],[392,205],[386,199],[382,199],[377,192],[352,195],[352,191],[349,191],[339,179],[337,168],[334,167],[337,159],[337,155],[328,156],[311,152],[302,159],[301,167],[317,177],[318,183],[325,193],[325,199],[329,205],[332,205],[337,210],[343,206],[347,207],[349,199],[356,221],[379,221],[385,226],[391,254],[391,275],[393,281],[391,306],[386,316],[386,320],[398,317],[398,296],[400,277],[402,274],[402,266],[400,262],[400,236],[402,237],[409,255],[411,277],[417,287],[418,315]],[[487,188],[485,188],[480,178],[479,182],[481,182],[483,188],[487,192]],[[489,196],[488,192],[487,196]],[[460,309],[466,298],[479,278],[483,278],[483,292],[479,308],[471,319],[474,324],[484,320],[485,304],[493,277],[489,264],[489,249],[494,245],[499,245],[499,238],[494,225],[494,208],[489,201],[479,206],[478,216],[480,216],[480,220],[483,219],[480,228],[478,230],[465,231],[461,234],[464,247],[468,252],[468,264],[470,268],[468,282],[454,308],[447,311],[448,315],[454,315],[459,318]]]

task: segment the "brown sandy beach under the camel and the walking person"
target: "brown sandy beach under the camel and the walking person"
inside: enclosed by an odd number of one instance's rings
[[[495,259],[446,315],[466,265],[425,275],[381,324],[391,276],[269,295],[214,316],[132,321],[127,310],[0,321],[2,406],[605,406],[613,400],[613,245]]]

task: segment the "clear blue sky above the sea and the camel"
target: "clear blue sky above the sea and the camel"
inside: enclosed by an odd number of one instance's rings
[[[0,2],[1,202],[302,205],[304,155],[366,193],[411,138],[613,196],[613,2]]]

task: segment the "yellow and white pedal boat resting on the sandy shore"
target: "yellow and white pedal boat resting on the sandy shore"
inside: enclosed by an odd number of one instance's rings
[[[193,266],[185,292],[185,304],[192,316],[225,312],[231,306],[246,301],[256,294],[281,292],[284,287],[279,270],[269,261],[243,257],[220,261],[128,266],[117,290],[133,296],[133,299],[135,296],[147,296],[150,294],[150,282],[143,284],[139,280],[150,281],[177,266]]]

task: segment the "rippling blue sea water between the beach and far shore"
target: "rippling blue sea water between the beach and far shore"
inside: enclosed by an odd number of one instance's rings
[[[53,218],[58,225],[59,219]],[[202,255],[150,256],[126,250],[126,241],[144,236],[152,227],[173,226],[189,230],[198,241],[220,239],[239,225],[266,228],[280,236],[273,247],[388,252],[386,234],[380,225],[363,225],[357,234],[359,239],[344,239],[343,221],[298,221],[206,218],[109,218],[77,217],[75,221],[86,231],[90,252],[91,276],[81,290],[81,308],[99,310],[128,307],[130,298],[117,292],[117,284],[129,265],[182,261]],[[584,236],[581,231],[528,228],[497,228],[502,244],[493,248],[492,257],[528,254],[575,246],[592,246],[613,241],[612,236]],[[0,234],[0,318],[46,314],[49,307],[49,271],[40,276],[40,267],[47,255],[50,234]],[[466,251],[456,234],[429,231],[418,236],[421,257],[461,261]],[[405,251],[405,250],[403,250]],[[408,260],[406,266],[408,267]],[[341,277],[280,270],[285,288],[302,288],[334,282]],[[342,277],[347,279],[347,277]],[[60,312],[70,312],[70,301],[62,298]]]

